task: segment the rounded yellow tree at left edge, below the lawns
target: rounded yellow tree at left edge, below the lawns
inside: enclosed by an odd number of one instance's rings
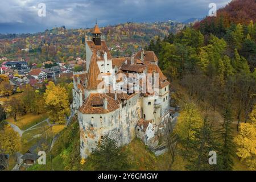
[[[0,152],[13,155],[20,150],[20,136],[9,125],[0,130]]]

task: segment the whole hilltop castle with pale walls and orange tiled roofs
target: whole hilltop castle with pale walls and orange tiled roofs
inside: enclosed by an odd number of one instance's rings
[[[80,125],[81,157],[106,135],[118,146],[135,136],[147,144],[170,117],[170,82],[155,53],[142,49],[131,57],[113,58],[97,24],[85,47],[86,72],[73,76],[72,109]]]

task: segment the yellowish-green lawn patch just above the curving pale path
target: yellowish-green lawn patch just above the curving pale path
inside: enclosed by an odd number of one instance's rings
[[[20,130],[26,130],[31,126],[36,125],[45,119],[48,118],[47,114],[26,114],[18,116],[17,121],[15,122],[13,118],[8,118],[6,121],[13,123],[14,125],[18,126]]]

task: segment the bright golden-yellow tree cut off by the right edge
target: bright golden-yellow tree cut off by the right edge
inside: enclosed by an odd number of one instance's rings
[[[241,123],[240,133],[234,138],[238,145],[237,156],[246,162],[251,170],[256,170],[256,105],[250,113],[250,122]]]

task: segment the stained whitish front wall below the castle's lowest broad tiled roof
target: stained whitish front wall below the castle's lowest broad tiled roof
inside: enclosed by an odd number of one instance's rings
[[[93,117],[93,118],[92,118]],[[141,118],[141,101],[139,94],[130,98],[126,105],[107,114],[82,114],[79,112],[80,151],[81,157],[86,158],[101,136],[109,135],[117,140],[118,146],[131,142],[135,137],[135,126]]]

